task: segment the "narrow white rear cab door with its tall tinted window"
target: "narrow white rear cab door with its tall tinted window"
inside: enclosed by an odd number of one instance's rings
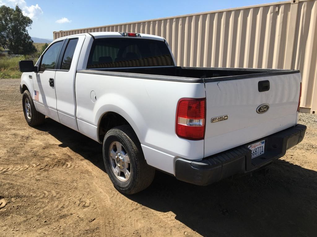
[[[61,124],[78,131],[76,121],[75,76],[85,35],[66,39],[55,74],[57,114]]]

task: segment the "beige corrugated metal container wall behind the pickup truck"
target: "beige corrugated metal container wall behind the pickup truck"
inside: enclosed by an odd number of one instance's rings
[[[102,31],[164,37],[179,66],[299,69],[301,107],[317,111],[317,0],[291,0],[125,24],[54,32],[54,39]],[[306,110],[309,112],[309,110]]]

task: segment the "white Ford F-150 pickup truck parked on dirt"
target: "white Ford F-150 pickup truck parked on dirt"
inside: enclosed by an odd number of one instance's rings
[[[103,144],[115,188],[148,187],[155,169],[208,185],[252,172],[300,143],[298,70],[176,66],[159,36],[99,32],[54,40],[20,61],[23,112]]]

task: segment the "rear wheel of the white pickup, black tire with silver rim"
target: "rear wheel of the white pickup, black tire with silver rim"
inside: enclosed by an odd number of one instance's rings
[[[121,149],[119,143],[122,145]],[[146,164],[141,144],[131,126],[122,125],[110,129],[104,137],[102,147],[107,173],[118,191],[134,194],[152,183],[155,169]]]

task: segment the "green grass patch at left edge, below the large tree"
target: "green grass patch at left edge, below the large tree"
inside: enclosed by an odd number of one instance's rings
[[[19,70],[19,61],[25,57],[0,58],[0,78],[20,78],[22,73]]]

